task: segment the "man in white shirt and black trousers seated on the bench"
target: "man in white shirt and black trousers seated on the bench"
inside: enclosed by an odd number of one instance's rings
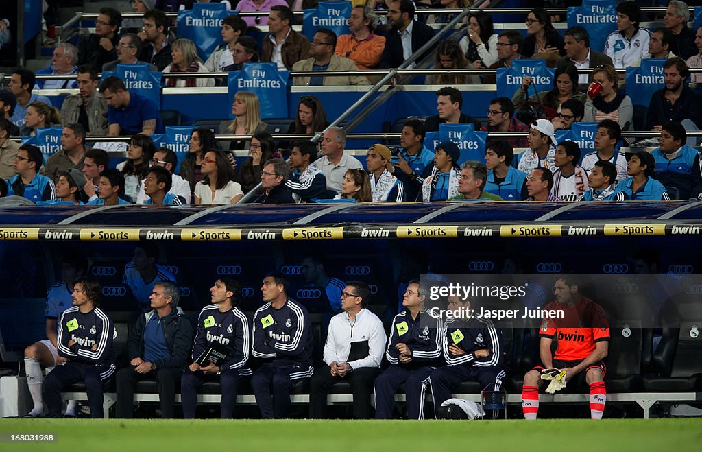
[[[383,322],[366,309],[371,291],[362,281],[347,281],[341,293],[341,309],[329,322],[324,344],[325,366],[318,368],[310,384],[310,418],[326,417],[326,394],[340,381],[351,384],[353,417],[371,417],[373,381],[380,373],[385,351]]]

